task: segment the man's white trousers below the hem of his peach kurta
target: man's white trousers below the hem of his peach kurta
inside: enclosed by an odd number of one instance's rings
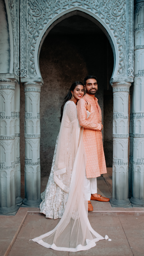
[[[85,191],[85,200],[91,200],[91,194],[97,193],[97,180],[96,178],[87,178],[85,172],[84,179],[84,191]]]

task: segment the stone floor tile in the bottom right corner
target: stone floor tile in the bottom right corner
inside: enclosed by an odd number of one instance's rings
[[[143,239],[128,239],[130,248],[134,256],[143,256],[144,255],[144,242]]]

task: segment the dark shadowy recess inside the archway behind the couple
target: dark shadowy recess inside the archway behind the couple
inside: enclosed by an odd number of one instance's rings
[[[98,81],[96,97],[102,109],[106,165],[112,167],[113,93],[109,81],[113,65],[113,51],[107,37],[84,17],[75,15],[63,20],[45,38],[39,57],[44,80],[40,95],[42,176],[48,176],[51,170],[63,99],[74,81],[83,82],[90,74]]]

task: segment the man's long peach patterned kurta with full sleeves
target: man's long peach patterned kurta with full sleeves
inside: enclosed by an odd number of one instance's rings
[[[87,118],[85,99],[91,103],[91,114]],[[98,105],[97,98],[90,99],[85,95],[77,102],[77,116],[83,130],[83,141],[87,156],[86,176],[95,178],[102,173],[106,173],[106,163],[103,150],[102,132],[102,112]]]

